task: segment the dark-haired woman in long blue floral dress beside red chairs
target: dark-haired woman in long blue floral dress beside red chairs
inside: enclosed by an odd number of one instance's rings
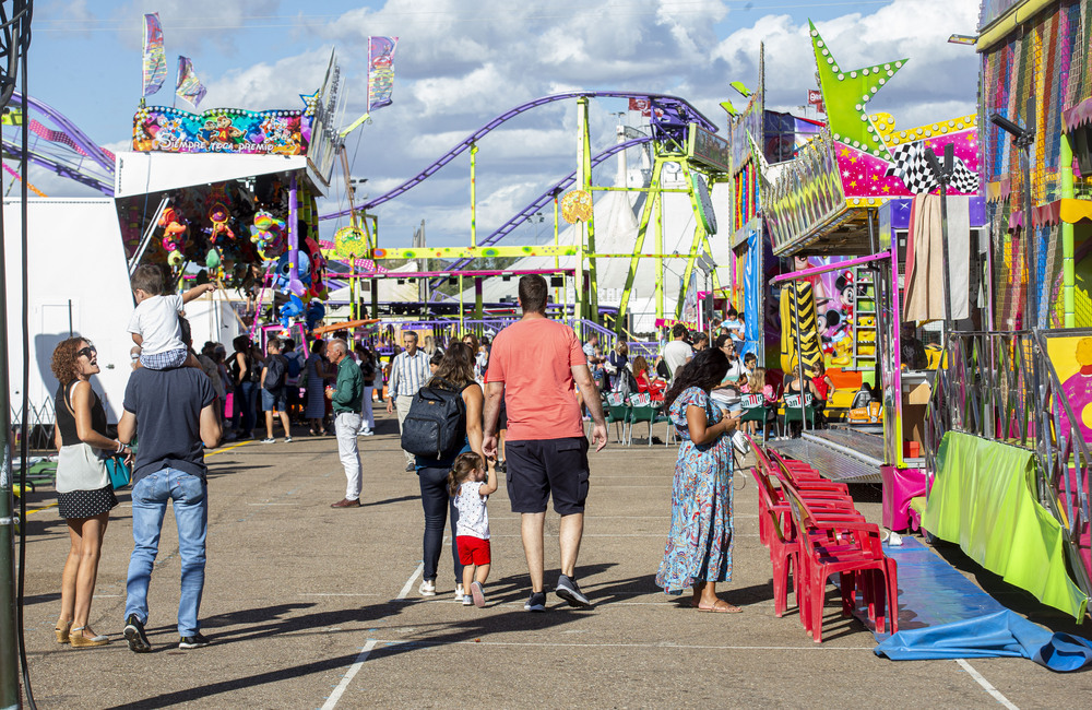
[[[732,438],[738,417],[724,416],[709,400],[728,371],[713,347],[679,369],[664,409],[682,443],[672,488],[672,530],[656,584],[668,594],[693,591],[703,612],[738,613],[716,596],[716,583],[732,579]]]

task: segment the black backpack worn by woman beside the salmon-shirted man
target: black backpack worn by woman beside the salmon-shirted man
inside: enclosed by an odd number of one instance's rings
[[[402,448],[429,459],[454,454],[466,438],[466,404],[462,390],[455,390],[447,380],[439,380],[437,384],[450,389],[426,386],[417,390],[402,423]],[[473,382],[466,387],[471,384]]]

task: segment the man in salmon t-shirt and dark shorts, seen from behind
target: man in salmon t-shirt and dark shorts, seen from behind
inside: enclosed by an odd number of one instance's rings
[[[587,359],[572,329],[546,318],[546,280],[537,274],[520,279],[523,318],[497,335],[489,355],[485,401],[487,457],[497,454],[497,415],[503,399],[508,409],[508,496],[512,512],[521,513],[523,553],[531,572],[529,612],[546,611],[543,589],[543,524],[546,504],[561,516],[561,576],[555,592],[570,606],[587,606],[574,578],[577,554],[584,531],[587,498],[587,439],[573,384],[595,422],[592,441],[600,451],[607,443],[607,424]]]

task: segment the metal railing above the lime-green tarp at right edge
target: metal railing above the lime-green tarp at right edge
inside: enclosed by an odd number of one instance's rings
[[[926,465],[934,475],[947,431],[1033,450],[1038,501],[1066,531],[1075,581],[1092,593],[1081,554],[1092,455],[1048,354],[1055,338],[1092,338],[1092,330],[950,333],[926,413]]]

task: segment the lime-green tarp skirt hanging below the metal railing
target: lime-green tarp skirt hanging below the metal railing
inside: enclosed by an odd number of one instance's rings
[[[1084,618],[1089,599],[1066,571],[1060,523],[1038,504],[1034,453],[949,431],[923,525],[1041,602]]]

